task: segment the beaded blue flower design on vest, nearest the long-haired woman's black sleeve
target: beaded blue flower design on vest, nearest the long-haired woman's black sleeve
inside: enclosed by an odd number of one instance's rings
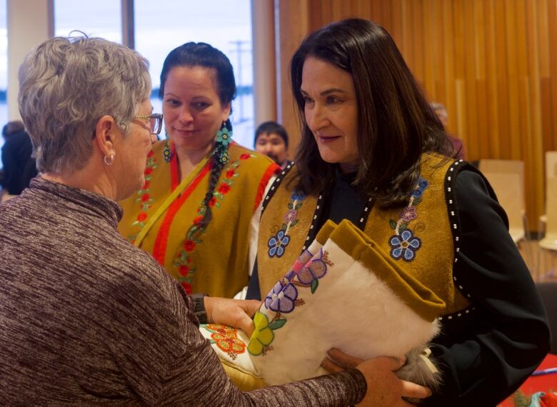
[[[388,239],[388,244],[391,246],[391,257],[395,260],[414,261],[416,258],[416,251],[421,247],[421,238],[418,238],[413,231],[408,228],[408,224],[418,218],[418,206],[423,199],[423,192],[428,188],[429,183],[425,179],[418,180],[418,185],[413,191],[408,206],[403,208],[398,221],[389,219],[388,223],[394,229],[395,234]]]

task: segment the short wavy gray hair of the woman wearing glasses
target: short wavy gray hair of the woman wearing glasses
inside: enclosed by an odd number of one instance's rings
[[[55,37],[36,46],[19,68],[19,113],[41,172],[82,169],[97,121],[114,117],[127,134],[149,97],[149,61],[100,38]]]

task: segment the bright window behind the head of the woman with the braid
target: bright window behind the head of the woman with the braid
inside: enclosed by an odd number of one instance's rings
[[[234,140],[251,148],[254,144],[254,74],[250,0],[135,0],[134,12],[136,50],[151,64],[154,111],[162,111],[158,94],[166,55],[188,41],[206,42],[223,51],[234,66],[238,88],[232,102]]]

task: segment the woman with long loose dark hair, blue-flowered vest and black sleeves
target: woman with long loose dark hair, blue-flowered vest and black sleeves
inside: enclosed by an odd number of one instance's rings
[[[451,159],[443,126],[372,21],[306,37],[291,83],[301,144],[264,200],[248,298],[265,296],[328,219],[348,219],[445,303],[431,345],[442,384],[423,403],[496,405],[546,355],[549,333],[488,181]]]

